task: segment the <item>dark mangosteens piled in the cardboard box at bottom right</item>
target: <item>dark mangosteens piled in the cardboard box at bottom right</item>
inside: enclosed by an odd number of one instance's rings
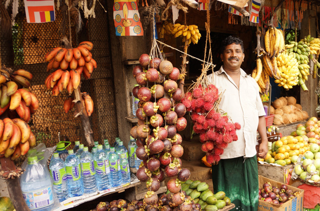
[[[300,192],[293,191],[287,185],[282,184],[280,188],[272,186],[270,182],[265,182],[262,189],[259,189],[259,200],[273,204],[283,204],[284,202],[296,197]]]

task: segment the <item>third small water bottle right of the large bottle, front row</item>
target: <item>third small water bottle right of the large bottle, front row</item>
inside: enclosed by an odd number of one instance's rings
[[[80,162],[85,193],[93,193],[97,191],[96,170],[94,169],[93,156],[87,147],[84,147],[84,152],[80,155]]]

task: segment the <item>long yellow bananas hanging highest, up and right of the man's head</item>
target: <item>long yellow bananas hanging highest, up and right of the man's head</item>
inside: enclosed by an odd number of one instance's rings
[[[284,38],[281,30],[271,26],[264,36],[265,50],[270,58],[277,57],[284,49]]]

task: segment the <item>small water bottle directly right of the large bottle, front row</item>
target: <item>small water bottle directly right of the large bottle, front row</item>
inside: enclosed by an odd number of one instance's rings
[[[64,161],[59,157],[58,153],[53,154],[49,169],[53,179],[53,189],[56,192],[59,201],[63,202],[65,199],[69,198],[69,191]]]

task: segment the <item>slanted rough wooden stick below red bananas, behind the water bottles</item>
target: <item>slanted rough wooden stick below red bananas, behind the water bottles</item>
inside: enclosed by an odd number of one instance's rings
[[[80,92],[80,87],[81,84],[79,84],[78,88],[73,91],[73,102],[75,102],[75,118],[80,116],[82,126],[84,128],[85,132],[85,141],[88,144],[89,147],[94,146],[93,138],[91,136],[92,129],[90,126],[88,114],[85,111],[85,107],[83,105],[83,99],[82,99],[82,94]]]

